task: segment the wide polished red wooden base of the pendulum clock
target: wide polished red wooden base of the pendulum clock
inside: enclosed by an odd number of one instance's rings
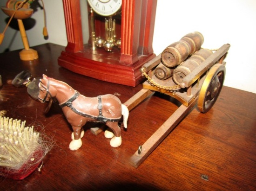
[[[101,55],[99,52],[92,54],[86,51],[76,53],[62,51],[58,64],[84,76],[135,87],[143,80],[141,66],[155,57],[155,54],[142,55],[134,64],[123,65],[119,63],[120,55],[116,57],[115,52],[106,55]]]

